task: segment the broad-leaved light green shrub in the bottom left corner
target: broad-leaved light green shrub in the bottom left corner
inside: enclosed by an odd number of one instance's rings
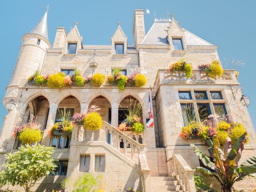
[[[0,172],[0,183],[23,186],[26,192],[30,192],[30,188],[38,180],[50,172],[54,173],[57,166],[52,159],[53,152],[52,147],[26,145],[21,146],[17,152],[6,154],[6,164]]]

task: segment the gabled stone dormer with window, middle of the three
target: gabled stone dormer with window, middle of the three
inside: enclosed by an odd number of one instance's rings
[[[127,37],[125,36],[121,22],[118,22],[116,32],[111,38],[111,53],[112,55],[124,55],[127,52]]]

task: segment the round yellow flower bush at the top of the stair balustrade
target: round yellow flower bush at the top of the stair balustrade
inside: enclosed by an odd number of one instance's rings
[[[102,118],[97,112],[89,113],[84,118],[84,128],[87,130],[99,130],[102,126]]]

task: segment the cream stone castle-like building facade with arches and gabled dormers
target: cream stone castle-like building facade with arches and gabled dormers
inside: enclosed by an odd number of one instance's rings
[[[54,44],[51,46],[48,37],[36,33],[25,34],[17,59],[14,73],[6,88],[3,101],[6,105],[14,99],[16,106],[4,117],[0,137],[0,164],[4,165],[4,154],[16,151],[18,141],[13,138],[12,128],[19,122],[26,122],[29,114],[34,115],[41,124],[43,139],[41,144],[52,146],[53,138],[48,131],[56,120],[58,108],[73,108],[74,112],[86,112],[88,107],[96,105],[104,121],[102,130],[98,132],[85,131],[81,126],[74,126],[70,148],[58,148],[54,152],[56,160],[68,160],[66,176],[49,176],[40,181],[34,190],[45,191],[59,189],[63,178],[71,178],[72,182],[83,173],[79,171],[80,156],[90,156],[90,170],[94,175],[94,160],[96,155],[105,156],[105,171],[102,174],[102,190],[134,187],[136,190],[150,192],[148,183],[150,177],[173,176],[170,159],[180,154],[186,161],[186,167],[196,168],[198,157],[194,154],[190,143],[207,152],[207,147],[200,140],[184,141],[179,137],[183,120],[179,91],[190,91],[192,103],[196,106],[194,91],[220,91],[222,100],[207,100],[212,114],[214,104],[222,103],[230,120],[241,122],[250,135],[250,143],[245,146],[242,159],[256,153],[256,134],[246,106],[239,99],[239,82],[234,70],[225,70],[224,75],[212,80],[199,70],[193,70],[189,79],[182,79],[167,71],[168,66],[182,58],[196,69],[198,64],[219,59],[217,46],[214,46],[180,27],[174,18],[155,19],[150,31],[145,35],[144,11],[134,12],[134,45],[127,45],[120,23],[111,37],[111,45],[94,46],[82,44],[82,37],[77,23],[67,34],[65,28],[58,27]],[[47,13],[47,12],[46,12]],[[39,25],[39,24],[38,24]],[[182,39],[183,50],[175,50],[172,38]],[[40,43],[38,44],[38,40]],[[76,53],[68,54],[68,43],[76,43]],[[115,44],[123,44],[123,54],[115,54]],[[62,69],[78,68],[83,77],[92,74],[91,63],[98,66],[94,73],[105,76],[111,74],[113,68],[127,70],[130,75],[132,68],[140,67],[146,75],[147,84],[143,88],[126,86],[119,90],[117,86],[104,83],[100,87],[89,84],[72,86],[72,88],[48,88],[27,83],[30,75],[39,70],[40,74],[54,74]],[[234,90],[238,91],[233,94]],[[16,94],[18,92],[18,94]],[[152,101],[154,127],[146,127],[148,118],[148,95]],[[118,132],[118,109],[125,106],[125,99],[132,97],[142,104],[142,117],[145,130],[142,134]],[[111,110],[110,110],[111,108]],[[111,112],[110,112],[111,111]],[[108,124],[108,123],[111,123]],[[111,132],[108,144],[107,133]],[[142,142],[138,142],[142,138]],[[119,147],[123,140],[124,148]],[[135,140],[135,141],[134,141]],[[58,138],[60,141],[60,138]],[[132,147],[130,147],[132,146]],[[127,148],[128,147],[128,148]],[[145,157],[145,158],[144,158]],[[189,176],[188,176],[189,177]],[[191,178],[190,178],[191,180]],[[54,183],[54,185],[51,184]],[[193,191],[193,190],[191,190]]]

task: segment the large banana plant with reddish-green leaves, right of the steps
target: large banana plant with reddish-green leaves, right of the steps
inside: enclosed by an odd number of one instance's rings
[[[238,166],[238,161],[242,156],[244,143],[246,142],[247,132],[244,132],[232,146],[231,139],[228,137],[225,141],[223,151],[220,149],[218,137],[213,136],[212,140],[207,138],[208,152],[213,158],[210,160],[194,144],[194,152],[199,156],[200,161],[206,166],[197,167],[196,171],[205,176],[212,176],[220,183],[222,192],[232,192],[232,186],[235,182],[244,180],[248,176],[255,176],[256,173],[256,156],[252,156]]]

